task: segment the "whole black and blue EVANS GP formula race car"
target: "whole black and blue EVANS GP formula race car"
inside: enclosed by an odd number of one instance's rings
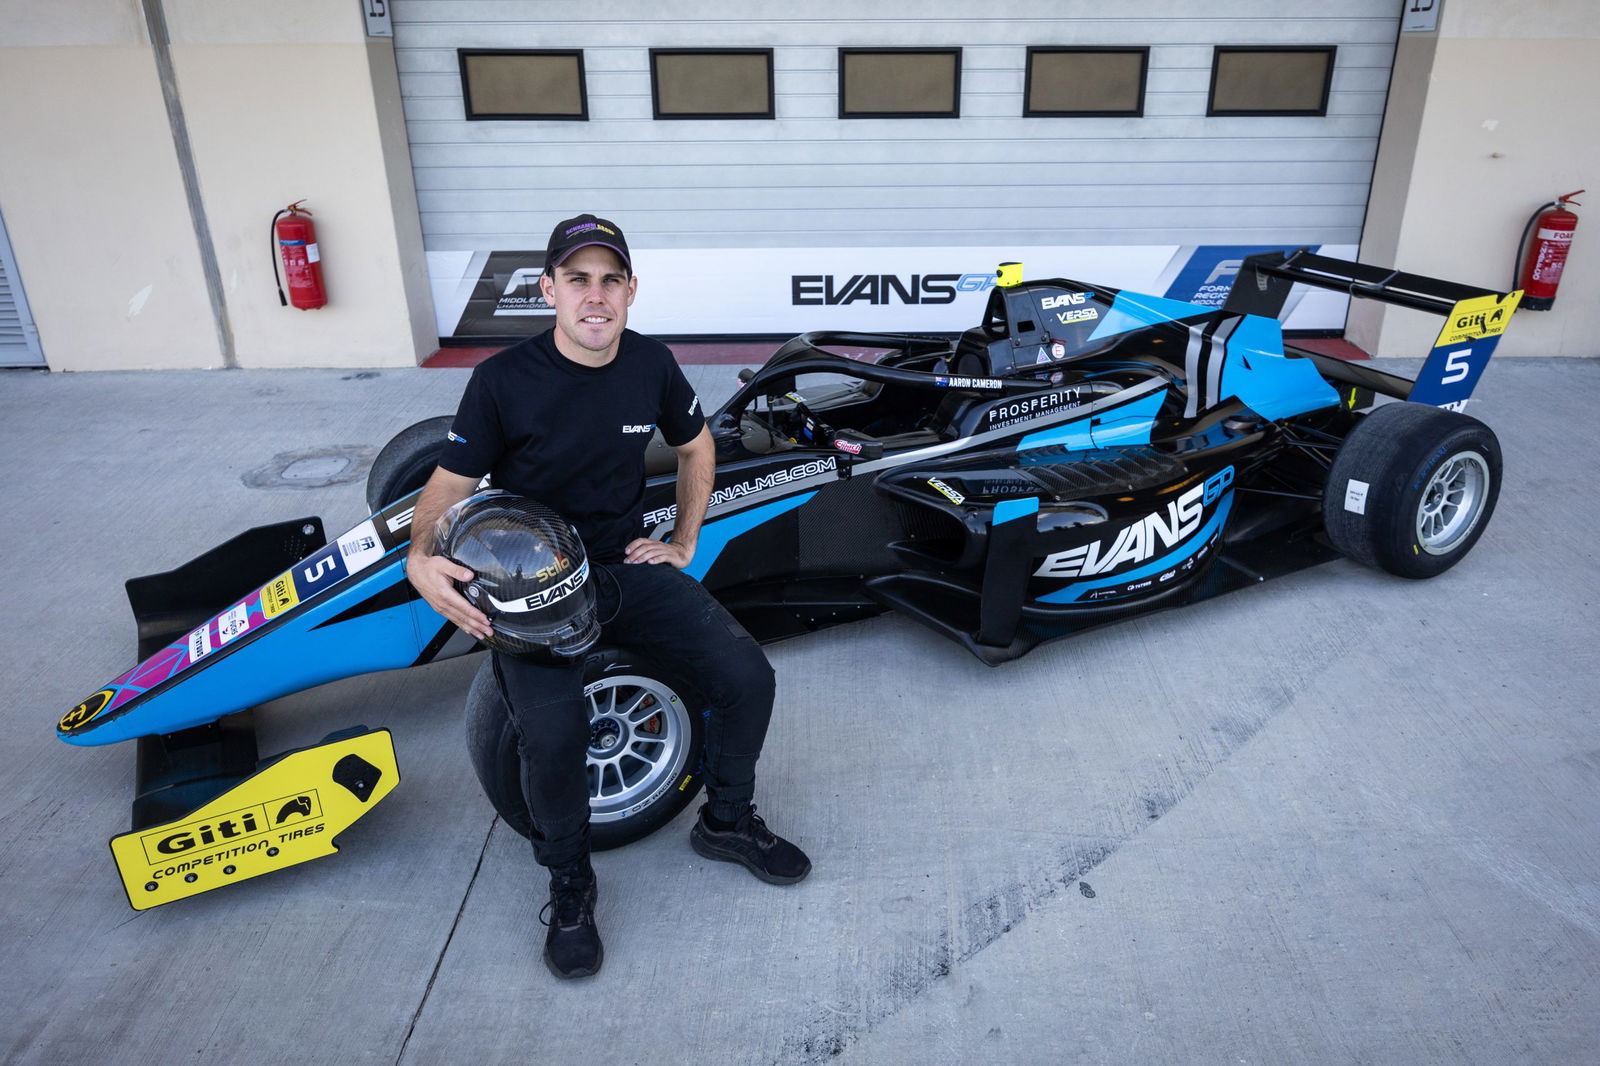
[[[1285,347],[1296,282],[1445,315],[1418,379]],[[893,610],[989,664],[1336,555],[1429,578],[1494,511],[1499,445],[1461,407],[1518,298],[1301,250],[1246,259],[1219,309],[1003,272],[957,339],[808,333],[710,416],[690,573],[758,640]],[[248,712],[474,650],[402,565],[448,426],[389,442],[373,515],[331,544],[298,519],[128,583],[142,661],[58,731],[138,739],[134,826],[112,840],[134,908],[326,855],[398,781],[384,730],[262,762]],[[645,527],[670,538],[675,455],[658,439],[646,459]],[[621,650],[589,656],[586,695],[592,832],[614,847],[699,789],[701,698]],[[467,717],[485,792],[526,836],[488,671]]]

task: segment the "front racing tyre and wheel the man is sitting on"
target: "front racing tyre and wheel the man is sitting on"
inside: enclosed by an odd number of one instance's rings
[[[690,805],[702,784],[704,719],[699,698],[683,683],[618,648],[584,658],[584,698],[589,844],[603,852],[650,836]],[[517,733],[491,656],[467,690],[467,751],[490,804],[507,826],[530,837]]]

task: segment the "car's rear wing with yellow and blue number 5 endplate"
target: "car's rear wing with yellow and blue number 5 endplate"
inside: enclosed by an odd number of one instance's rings
[[[1405,399],[1458,411],[1483,376],[1522,299],[1522,290],[1501,293],[1296,248],[1248,256],[1222,309],[1277,319],[1294,282],[1443,315],[1445,327]]]

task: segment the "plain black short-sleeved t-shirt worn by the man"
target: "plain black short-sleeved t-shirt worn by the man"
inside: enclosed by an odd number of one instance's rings
[[[531,496],[565,515],[597,562],[643,535],[645,448],[699,435],[699,397],[661,341],[622,331],[605,367],[574,363],[554,331],[478,363],[438,464]]]

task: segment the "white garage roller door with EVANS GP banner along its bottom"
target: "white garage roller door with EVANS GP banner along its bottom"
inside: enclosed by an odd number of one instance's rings
[[[1398,6],[925,0],[864,18],[859,3],[818,0],[730,18],[709,0],[398,0],[440,333],[526,331],[539,307],[517,271],[538,262],[510,253],[542,250],[554,221],[579,211],[624,226],[645,280],[637,314],[661,333],[957,330],[995,258],[1171,293],[1216,280],[1218,264],[1226,279],[1242,248],[1354,253]],[[1147,46],[1144,114],[1024,117],[1027,48],[1061,45]],[[1208,117],[1219,45],[1333,46],[1326,114]],[[842,46],[958,46],[960,117],[840,118]],[[587,120],[469,122],[464,48],[581,50]],[[774,117],[654,118],[651,48],[771,48]],[[955,275],[958,298],[939,282],[902,299],[912,275]],[[1338,299],[1298,314],[1290,325],[1342,325]]]

